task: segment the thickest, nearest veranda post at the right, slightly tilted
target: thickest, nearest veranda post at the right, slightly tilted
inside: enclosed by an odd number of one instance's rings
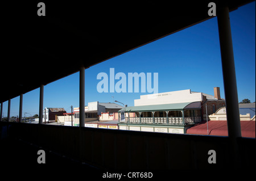
[[[231,145],[230,151],[232,152],[231,155],[234,162],[232,163],[232,166],[236,167],[238,166],[237,138],[241,137],[241,124],[228,6],[218,7],[217,19],[226,100],[226,116],[228,120],[228,134]]]

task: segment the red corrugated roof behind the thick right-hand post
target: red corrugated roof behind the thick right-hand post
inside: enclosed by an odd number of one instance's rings
[[[255,121],[240,121],[242,137],[255,138]],[[209,135],[228,136],[227,121],[208,121]],[[207,135],[207,123],[202,121],[194,127],[187,129],[187,134]]]

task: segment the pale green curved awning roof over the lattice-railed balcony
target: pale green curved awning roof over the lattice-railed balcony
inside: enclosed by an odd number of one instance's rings
[[[173,104],[157,104],[147,106],[130,106],[120,111],[126,112],[149,112],[149,111],[177,111],[177,110],[198,110],[201,108],[201,102],[173,103]]]

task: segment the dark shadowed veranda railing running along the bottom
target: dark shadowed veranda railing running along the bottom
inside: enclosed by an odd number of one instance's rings
[[[229,137],[3,122],[0,130],[1,139],[18,138],[109,169],[226,169],[234,159]],[[241,166],[253,165],[255,139],[237,141]],[[216,164],[208,163],[209,150],[216,151]]]

